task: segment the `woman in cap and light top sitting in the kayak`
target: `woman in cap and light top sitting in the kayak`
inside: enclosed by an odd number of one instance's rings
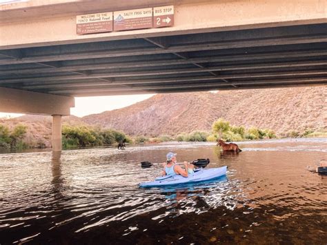
[[[188,177],[189,173],[194,173],[194,166],[192,164],[189,165],[187,161],[184,161],[185,169],[177,165],[176,155],[176,153],[168,153],[166,155],[167,162],[164,163],[164,171],[162,172],[162,175],[181,175],[183,177]]]

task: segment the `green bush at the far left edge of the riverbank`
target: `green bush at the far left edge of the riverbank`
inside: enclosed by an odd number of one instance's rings
[[[17,124],[12,130],[8,126],[0,125],[0,148],[23,149],[28,145],[23,141],[27,126]]]

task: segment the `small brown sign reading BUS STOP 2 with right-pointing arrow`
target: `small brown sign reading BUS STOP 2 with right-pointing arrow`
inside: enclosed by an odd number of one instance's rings
[[[153,17],[155,28],[174,26],[174,6],[153,8]]]

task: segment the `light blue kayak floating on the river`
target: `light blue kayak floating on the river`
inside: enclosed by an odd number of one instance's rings
[[[139,184],[139,187],[149,188],[157,186],[174,186],[178,184],[191,184],[197,182],[205,182],[210,179],[217,179],[221,176],[226,175],[227,166],[221,168],[201,168],[188,175],[188,177],[183,177],[181,175],[166,175],[163,177],[157,177],[154,182],[143,182]]]

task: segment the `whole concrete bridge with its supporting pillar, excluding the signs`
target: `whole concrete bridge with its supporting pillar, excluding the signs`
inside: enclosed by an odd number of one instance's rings
[[[77,35],[76,17],[174,6],[174,25]],[[0,5],[0,111],[61,116],[74,97],[327,84],[327,1],[23,1]]]

